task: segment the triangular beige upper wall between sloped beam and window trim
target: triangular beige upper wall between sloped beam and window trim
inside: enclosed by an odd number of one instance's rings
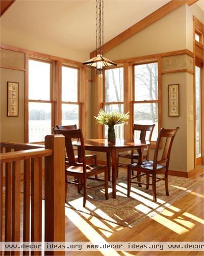
[[[105,57],[116,60],[182,49],[186,49],[185,6],[125,40]]]

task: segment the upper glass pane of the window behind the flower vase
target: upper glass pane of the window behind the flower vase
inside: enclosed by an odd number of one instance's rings
[[[105,70],[105,101],[123,101],[123,68]]]

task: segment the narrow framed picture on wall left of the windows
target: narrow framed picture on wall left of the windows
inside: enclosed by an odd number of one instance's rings
[[[7,116],[18,116],[18,82],[7,82]]]

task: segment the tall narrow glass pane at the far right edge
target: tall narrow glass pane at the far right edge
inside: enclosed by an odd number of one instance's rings
[[[201,72],[195,67],[196,157],[201,157]]]

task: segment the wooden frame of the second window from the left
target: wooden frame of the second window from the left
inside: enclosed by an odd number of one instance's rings
[[[78,70],[78,88],[77,88],[77,92],[78,92],[78,95],[77,95],[77,101],[62,101],[62,82],[61,82],[61,120],[60,120],[60,124],[62,124],[62,104],[69,104],[69,105],[78,105],[79,107],[79,117],[78,117],[78,122],[79,122],[79,127],[82,127],[82,96],[81,96],[81,87],[80,87],[80,84],[82,84],[81,82],[81,68],[80,67],[75,67],[75,66],[71,66],[67,63],[63,63],[62,66],[61,66],[61,69],[63,67],[66,67],[66,68],[71,68],[71,69],[77,69]],[[61,81],[62,81],[62,78],[61,78]],[[79,128],[78,127],[78,128]]]

